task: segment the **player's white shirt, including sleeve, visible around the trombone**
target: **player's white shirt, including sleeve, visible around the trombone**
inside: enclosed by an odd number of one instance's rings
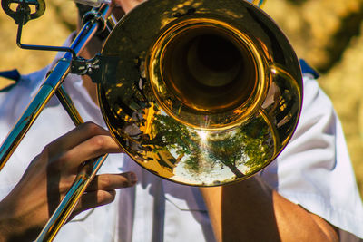
[[[0,94],[0,139],[13,127],[34,96],[46,69],[23,76],[10,92]],[[260,172],[289,200],[363,237],[363,207],[337,115],[318,83],[306,75],[299,127],[278,160]],[[79,76],[69,75],[64,88],[85,121],[104,126]],[[0,172],[0,199],[15,186],[30,160],[44,145],[74,128],[54,98]],[[86,211],[65,225],[56,241],[214,241],[199,189],[160,179],[126,155],[110,155],[101,172],[132,170],[139,182],[118,191],[107,206]]]

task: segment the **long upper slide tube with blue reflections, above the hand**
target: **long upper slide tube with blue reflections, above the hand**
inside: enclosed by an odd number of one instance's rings
[[[104,19],[109,15],[110,6],[103,5],[99,9],[99,17]],[[70,48],[74,50],[77,55],[81,53],[85,44],[93,37],[97,30],[102,27],[100,21],[95,21],[93,18],[83,24],[82,29],[76,35],[74,42]],[[54,69],[45,79],[39,91],[34,96],[34,99],[26,108],[23,115],[15,123],[12,131],[9,132],[0,148],[0,170],[4,168],[7,160],[14,153],[20,141],[23,140],[27,131],[33,125],[36,118],[43,111],[46,103],[54,95],[55,91],[64,81],[66,75],[70,72],[72,66],[72,54],[65,53],[64,57],[54,66]]]

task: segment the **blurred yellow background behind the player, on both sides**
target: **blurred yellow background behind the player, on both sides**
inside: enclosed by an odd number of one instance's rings
[[[45,14],[25,25],[23,43],[60,45],[74,31],[74,3],[45,2]],[[319,83],[343,123],[363,195],[363,0],[268,0],[264,10],[287,34],[299,58],[321,74]],[[55,53],[17,48],[15,34],[14,21],[1,10],[0,71],[30,73],[53,60]]]

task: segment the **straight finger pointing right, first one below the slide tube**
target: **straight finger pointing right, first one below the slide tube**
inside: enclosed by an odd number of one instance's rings
[[[98,189],[111,190],[128,188],[135,185],[137,177],[133,172],[125,172],[121,174],[103,174],[96,176],[87,191],[95,191]]]

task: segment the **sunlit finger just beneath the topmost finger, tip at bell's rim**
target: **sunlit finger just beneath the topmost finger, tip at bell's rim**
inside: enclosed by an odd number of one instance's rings
[[[110,135],[97,135],[84,140],[58,157],[57,162],[65,169],[74,171],[86,160],[92,160],[105,153],[120,153],[123,150]]]

